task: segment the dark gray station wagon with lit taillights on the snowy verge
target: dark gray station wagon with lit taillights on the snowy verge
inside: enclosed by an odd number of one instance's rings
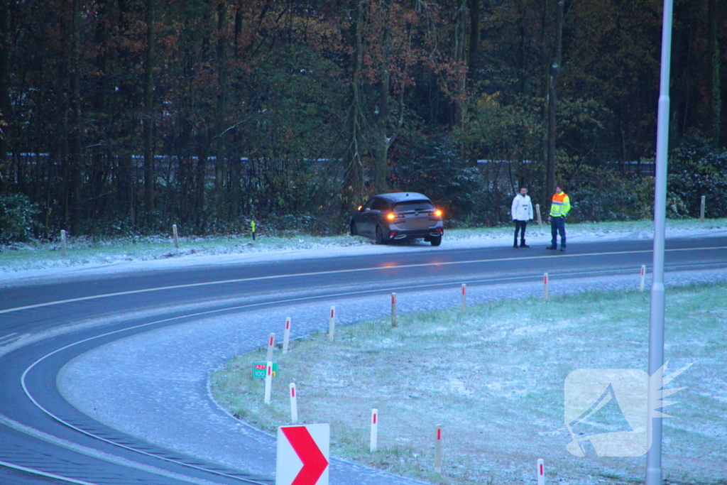
[[[444,234],[442,212],[421,193],[384,193],[358,207],[351,217],[350,233],[367,236],[376,244],[424,239],[432,246],[439,246]]]

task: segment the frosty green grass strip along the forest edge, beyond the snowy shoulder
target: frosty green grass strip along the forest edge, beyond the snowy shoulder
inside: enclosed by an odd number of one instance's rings
[[[537,229],[537,223],[528,228],[528,241],[550,241],[550,229]],[[649,220],[617,223],[569,224],[569,242],[604,241],[612,239],[646,239],[653,233]],[[699,233],[727,233],[727,219],[668,220],[667,236],[689,236]],[[451,229],[445,232],[443,248],[495,246],[511,244],[513,228],[505,225],[499,228]],[[247,235],[186,237],[180,235],[180,249],[175,249],[171,234],[167,236],[134,237],[124,239],[90,239],[87,237],[68,240],[67,256],[63,257],[59,241],[52,243],[33,242],[0,246],[0,273],[17,273],[27,270],[49,268],[79,268],[88,266],[123,264],[126,262],[174,260],[183,264],[200,260],[203,256],[239,255],[244,257],[295,252],[296,257],[305,254],[326,256],[335,254],[357,254],[356,249],[366,246],[370,251],[395,252],[411,249],[411,244],[392,244],[372,249],[372,242],[351,236],[310,236],[289,233],[282,236],[260,234],[257,241]],[[353,246],[353,247],[351,247]],[[414,246],[429,248],[429,244]],[[348,251],[347,251],[348,250]],[[353,252],[352,252],[353,251]],[[190,259],[192,258],[192,259]]]

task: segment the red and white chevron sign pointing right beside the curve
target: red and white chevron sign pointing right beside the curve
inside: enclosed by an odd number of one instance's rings
[[[331,427],[278,428],[276,485],[328,485]]]

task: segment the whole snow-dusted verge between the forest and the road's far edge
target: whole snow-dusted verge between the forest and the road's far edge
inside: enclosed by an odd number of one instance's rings
[[[624,223],[584,223],[567,227],[569,244],[593,241],[652,239],[651,221]],[[667,238],[727,236],[727,219],[668,220]],[[91,242],[71,239],[63,257],[59,244],[0,246],[0,285],[29,284],[66,278],[93,278],[145,270],[169,270],[246,262],[316,259],[440,249],[507,247],[513,241],[513,228],[474,228],[446,231],[440,248],[425,242],[377,246],[368,239],[352,236],[316,237],[308,235],[249,236],[180,239],[175,249],[171,238],[161,236],[130,242],[126,240]],[[542,231],[529,224],[527,241],[531,246],[550,243],[550,228]]]

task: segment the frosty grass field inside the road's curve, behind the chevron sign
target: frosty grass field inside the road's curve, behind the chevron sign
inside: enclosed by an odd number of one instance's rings
[[[671,484],[725,484],[727,462],[727,285],[667,289],[669,369],[696,364],[670,387],[664,477]],[[215,398],[271,433],[289,424],[289,382],[302,422],[331,424],[332,454],[435,484],[534,483],[544,458],[548,483],[643,483],[645,457],[574,457],[566,451],[563,383],[574,369],[643,369],[648,362],[648,292],[502,301],[366,321],[276,351],[281,377],[263,404],[263,381],[239,356],[212,375]],[[668,372],[668,369],[667,369]],[[371,408],[379,451],[369,453]],[[435,425],[443,468],[433,473]]]

